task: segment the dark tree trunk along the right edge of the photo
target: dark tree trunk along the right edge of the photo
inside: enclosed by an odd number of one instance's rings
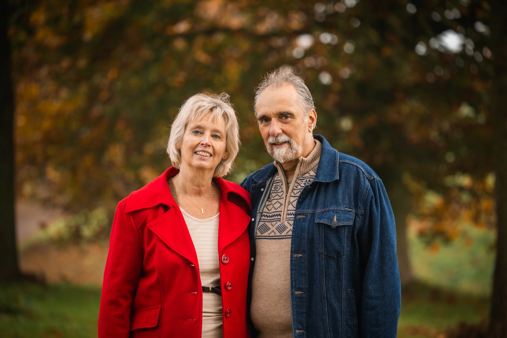
[[[495,200],[498,237],[491,299],[490,336],[507,337],[507,3],[491,4],[491,49],[494,56],[491,112],[495,157]]]

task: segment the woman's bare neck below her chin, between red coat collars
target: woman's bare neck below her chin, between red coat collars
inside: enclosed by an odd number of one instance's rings
[[[196,170],[191,167],[182,166],[179,168],[172,182],[178,193],[189,197],[206,197],[213,194],[214,172]]]

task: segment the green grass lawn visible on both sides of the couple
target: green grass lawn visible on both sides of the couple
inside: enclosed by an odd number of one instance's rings
[[[494,233],[464,228],[438,251],[409,232],[411,261],[419,283],[402,292],[399,338],[443,338],[459,322],[487,317]],[[100,288],[72,284],[0,285],[2,338],[97,336]]]

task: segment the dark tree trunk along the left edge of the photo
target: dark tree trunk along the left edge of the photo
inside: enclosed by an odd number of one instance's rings
[[[14,94],[11,45],[7,36],[9,8],[0,0],[0,281],[19,277],[14,223]]]

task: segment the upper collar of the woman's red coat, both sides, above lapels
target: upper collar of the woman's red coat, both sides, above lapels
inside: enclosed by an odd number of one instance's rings
[[[176,175],[178,172],[179,169],[170,167],[164,171],[162,175],[144,185],[141,189],[132,192],[128,197],[125,213],[153,208],[159,204],[166,205],[170,208],[177,208],[177,204],[172,198],[171,191],[169,190],[167,179]],[[226,181],[222,177],[215,177],[213,179],[219,186],[222,197],[225,198],[226,201],[229,194],[236,194],[248,204],[249,208],[251,208],[250,194],[246,190],[236,183]]]

